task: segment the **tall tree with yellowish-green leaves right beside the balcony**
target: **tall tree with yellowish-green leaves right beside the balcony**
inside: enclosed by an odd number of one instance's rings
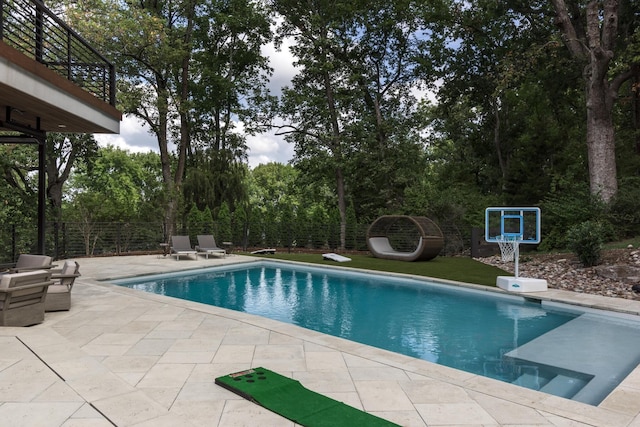
[[[119,70],[118,104],[149,126],[160,151],[168,195],[165,223],[173,233],[184,177],[188,133],[185,73],[191,57],[194,2],[73,2],[66,16]],[[170,146],[177,147],[175,158]]]

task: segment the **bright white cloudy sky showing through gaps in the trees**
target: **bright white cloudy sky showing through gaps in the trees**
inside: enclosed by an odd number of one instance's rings
[[[272,44],[267,45],[263,48],[263,54],[269,57],[274,70],[269,88],[272,94],[280,95],[281,88],[288,85],[296,73],[289,44],[283,43],[280,50],[276,50]],[[159,152],[155,136],[133,116],[123,116],[119,135],[95,134],[94,137],[101,146],[112,145],[132,153]],[[293,158],[293,146],[277,136],[275,131],[248,136],[247,145],[250,168],[269,162],[287,163]]]

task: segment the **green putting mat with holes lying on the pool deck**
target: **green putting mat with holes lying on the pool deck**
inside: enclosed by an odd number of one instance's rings
[[[264,368],[224,375],[216,384],[307,427],[399,427]]]

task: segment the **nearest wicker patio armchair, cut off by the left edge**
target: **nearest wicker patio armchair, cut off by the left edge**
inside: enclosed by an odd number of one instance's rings
[[[44,320],[51,271],[4,274],[0,279],[0,326],[29,326]]]

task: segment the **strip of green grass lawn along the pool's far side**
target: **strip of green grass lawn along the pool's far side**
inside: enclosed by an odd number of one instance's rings
[[[313,264],[362,268],[366,270],[388,271],[392,273],[415,274],[478,285],[495,286],[497,276],[512,276],[490,265],[467,257],[436,257],[431,261],[405,262],[374,258],[371,255],[351,255],[348,262],[326,261],[322,254],[277,252],[275,255],[253,255],[265,259],[308,262]]]

